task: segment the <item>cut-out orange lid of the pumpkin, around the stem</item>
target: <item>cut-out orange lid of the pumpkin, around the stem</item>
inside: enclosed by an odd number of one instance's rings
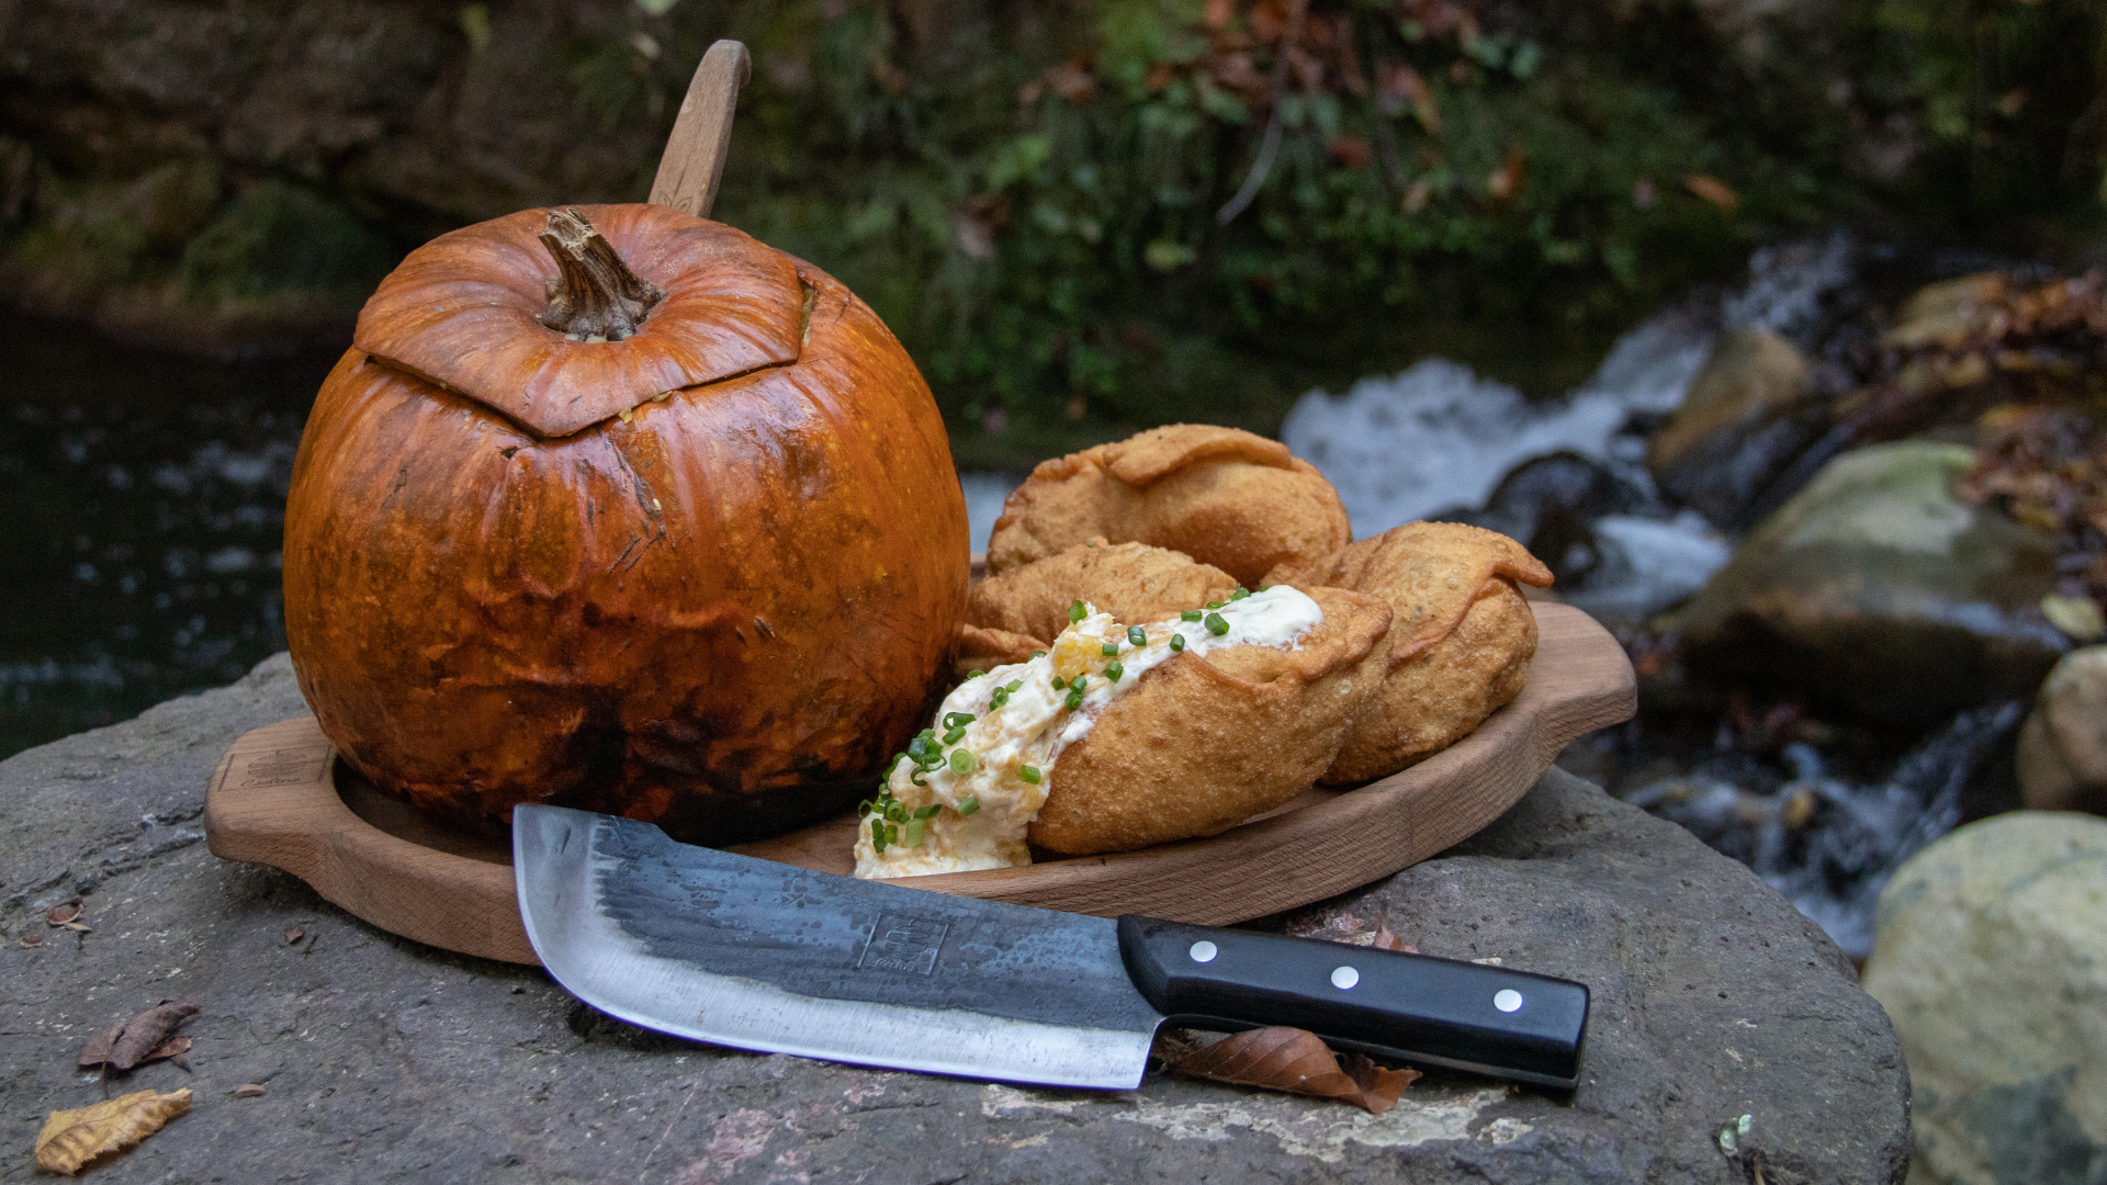
[[[548,211],[533,209],[411,251],[358,312],[352,344],[539,436],[796,361],[805,289],[788,255],[666,207],[573,209],[666,291],[632,337],[573,342],[541,325],[558,268],[535,238]]]

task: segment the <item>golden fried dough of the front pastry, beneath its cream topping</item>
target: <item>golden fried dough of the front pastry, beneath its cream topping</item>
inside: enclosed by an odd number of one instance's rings
[[[1287,803],[1380,692],[1391,609],[1308,588],[1323,622],[1298,649],[1180,654],[1112,700],[1047,772],[1030,843],[1081,856],[1216,835]]]

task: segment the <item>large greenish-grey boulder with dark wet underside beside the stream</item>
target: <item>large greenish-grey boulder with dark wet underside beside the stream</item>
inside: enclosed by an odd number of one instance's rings
[[[1974,453],[1846,453],[1742,540],[1679,614],[1690,671],[1926,727],[2025,698],[2069,647],[2042,618],[2056,540],[1953,498]]]

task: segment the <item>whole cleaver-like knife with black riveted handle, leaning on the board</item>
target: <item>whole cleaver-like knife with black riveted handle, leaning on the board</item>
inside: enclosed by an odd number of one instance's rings
[[[512,810],[512,867],[565,991],[718,1046],[1131,1090],[1176,1021],[1551,1088],[1580,1073],[1589,991],[1563,978],[860,881],[552,805]]]

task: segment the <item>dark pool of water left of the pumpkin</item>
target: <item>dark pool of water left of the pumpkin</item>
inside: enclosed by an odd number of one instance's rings
[[[0,757],[284,649],[284,491],[335,352],[204,361],[21,318],[0,339]]]

